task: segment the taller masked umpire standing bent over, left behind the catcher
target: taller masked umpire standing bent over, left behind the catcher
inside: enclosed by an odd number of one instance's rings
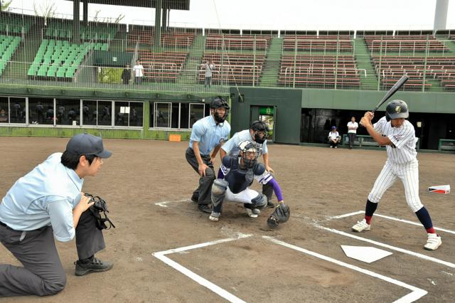
[[[191,200],[198,203],[198,209],[211,213],[212,199],[210,188],[215,181],[213,160],[221,144],[228,139],[230,124],[225,121],[229,114],[229,105],[222,97],[216,97],[210,103],[210,116],[193,124],[190,146],[186,149],[186,161],[199,174],[199,186],[193,192]],[[210,155],[210,151],[212,154]]]

